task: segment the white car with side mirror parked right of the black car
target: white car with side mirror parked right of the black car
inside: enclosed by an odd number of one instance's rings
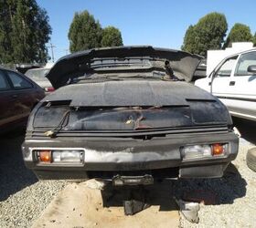
[[[212,92],[232,116],[256,121],[256,48],[226,57],[196,86]]]

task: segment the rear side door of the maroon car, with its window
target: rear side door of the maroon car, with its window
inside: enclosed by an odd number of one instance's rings
[[[27,119],[33,107],[33,84],[14,71],[6,70],[6,74],[12,83],[12,87],[14,88],[13,98],[16,98],[16,119]]]

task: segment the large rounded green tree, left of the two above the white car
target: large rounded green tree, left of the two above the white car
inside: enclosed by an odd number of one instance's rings
[[[187,28],[182,49],[206,56],[208,49],[220,49],[228,30],[226,16],[210,13]]]

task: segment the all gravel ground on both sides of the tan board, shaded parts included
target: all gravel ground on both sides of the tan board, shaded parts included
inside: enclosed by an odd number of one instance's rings
[[[251,127],[248,125],[248,128]],[[254,133],[248,139],[255,144]],[[37,181],[24,166],[20,145],[24,137],[0,140],[0,227],[30,227],[53,197],[68,183]],[[214,205],[201,205],[199,223],[181,216],[181,227],[256,227],[256,172],[246,166],[246,152],[253,144],[240,140],[240,153],[219,180],[173,181],[176,197],[191,190],[216,192]]]

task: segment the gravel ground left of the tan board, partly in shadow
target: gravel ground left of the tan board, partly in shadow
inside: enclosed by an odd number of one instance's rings
[[[25,167],[20,145],[23,136],[0,140],[0,227],[30,227],[65,181],[37,181]]]

